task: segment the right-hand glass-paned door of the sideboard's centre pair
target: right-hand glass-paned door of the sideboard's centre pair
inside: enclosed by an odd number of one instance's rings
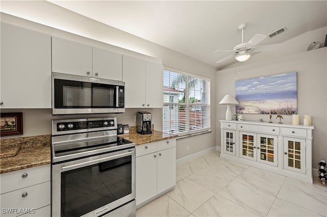
[[[277,167],[277,137],[265,134],[258,134],[257,137],[257,161]]]

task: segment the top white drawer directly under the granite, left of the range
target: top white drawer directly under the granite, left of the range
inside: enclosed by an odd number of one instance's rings
[[[51,168],[48,164],[1,174],[1,194],[50,181],[50,173]]]

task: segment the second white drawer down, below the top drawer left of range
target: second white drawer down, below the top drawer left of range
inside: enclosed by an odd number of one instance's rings
[[[50,181],[18,189],[1,195],[1,208],[38,209],[50,205]],[[27,194],[26,197],[22,197]],[[2,216],[17,216],[24,213],[2,213]]]

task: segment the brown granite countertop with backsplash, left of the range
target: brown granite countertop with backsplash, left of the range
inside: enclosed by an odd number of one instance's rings
[[[0,173],[51,163],[51,135],[1,139]]]

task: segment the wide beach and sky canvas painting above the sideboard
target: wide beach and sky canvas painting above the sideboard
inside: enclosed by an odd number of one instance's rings
[[[236,81],[237,114],[297,114],[296,72]]]

